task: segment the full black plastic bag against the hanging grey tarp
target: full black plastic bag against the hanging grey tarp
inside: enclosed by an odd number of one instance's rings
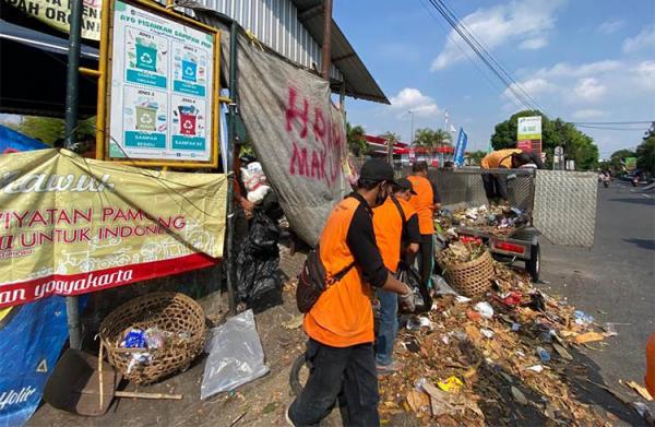
[[[282,292],[278,241],[277,223],[255,210],[237,256],[237,297],[240,303],[261,308],[258,301]]]

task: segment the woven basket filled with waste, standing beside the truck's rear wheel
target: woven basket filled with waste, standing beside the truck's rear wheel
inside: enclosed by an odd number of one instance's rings
[[[493,262],[488,250],[485,250],[481,256],[473,261],[458,264],[440,264],[448,284],[465,297],[479,297],[485,295],[491,287]]]

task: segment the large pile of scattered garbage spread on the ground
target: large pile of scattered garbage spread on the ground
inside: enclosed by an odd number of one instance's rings
[[[381,415],[409,412],[440,426],[527,424],[606,425],[576,399],[571,379],[579,345],[616,332],[532,287],[526,274],[495,262],[483,298],[449,293],[432,310],[405,321],[396,358],[403,369],[381,378]]]

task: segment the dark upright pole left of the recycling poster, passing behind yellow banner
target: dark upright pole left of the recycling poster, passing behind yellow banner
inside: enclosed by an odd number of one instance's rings
[[[82,0],[71,1],[71,17],[69,33],[68,70],[66,82],[66,147],[73,150],[78,142],[78,94],[80,48],[82,39]],[[80,306],[76,296],[66,298],[66,311],[69,328],[69,343],[71,348],[82,347],[82,328],[80,325]]]

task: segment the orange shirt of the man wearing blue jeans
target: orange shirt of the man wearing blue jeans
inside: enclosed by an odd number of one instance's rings
[[[405,214],[405,220],[416,214],[412,205],[403,199],[396,199]],[[382,205],[373,209],[373,229],[376,241],[382,256],[384,266],[395,273],[401,262],[401,240],[403,237],[403,218],[397,206],[386,198]]]

